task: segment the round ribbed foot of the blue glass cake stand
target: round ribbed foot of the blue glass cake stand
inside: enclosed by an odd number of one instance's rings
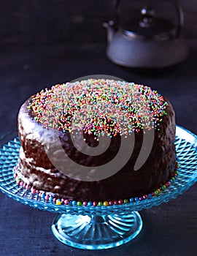
[[[52,230],[63,244],[79,249],[107,249],[135,238],[142,230],[142,218],[137,211],[92,216],[58,214]]]

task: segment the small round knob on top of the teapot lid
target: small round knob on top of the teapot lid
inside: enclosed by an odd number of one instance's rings
[[[142,20],[139,21],[139,26],[142,28],[150,28],[153,23],[153,18],[155,16],[155,11],[151,7],[142,7],[141,9]]]

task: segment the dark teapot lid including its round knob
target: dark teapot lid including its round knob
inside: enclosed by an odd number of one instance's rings
[[[135,18],[131,23],[125,24],[121,30],[128,37],[147,39],[169,37],[176,33],[174,24],[162,18],[155,18],[155,11],[151,7],[142,7],[141,20]]]

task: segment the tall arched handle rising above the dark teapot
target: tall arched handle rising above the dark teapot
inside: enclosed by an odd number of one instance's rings
[[[170,0],[170,1],[172,4],[174,4],[174,7],[177,10],[178,24],[177,24],[177,31],[175,36],[176,38],[178,38],[184,23],[184,14],[183,14],[182,7],[179,4],[179,0]],[[116,25],[119,25],[120,24],[120,0],[114,0],[113,6],[115,9],[115,23]]]

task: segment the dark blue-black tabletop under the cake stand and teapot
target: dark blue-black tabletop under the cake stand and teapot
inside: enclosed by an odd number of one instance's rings
[[[104,42],[90,44],[7,45],[0,48],[0,137],[17,129],[20,105],[31,94],[85,75],[114,75],[144,83],[168,98],[177,124],[197,134],[197,39],[188,39],[190,54],[178,67],[143,75],[112,64]],[[196,255],[197,185],[158,207],[141,211],[144,226],[133,241],[115,249],[87,251],[61,244],[50,230],[55,217],[24,206],[0,192],[0,255],[128,256]]]

